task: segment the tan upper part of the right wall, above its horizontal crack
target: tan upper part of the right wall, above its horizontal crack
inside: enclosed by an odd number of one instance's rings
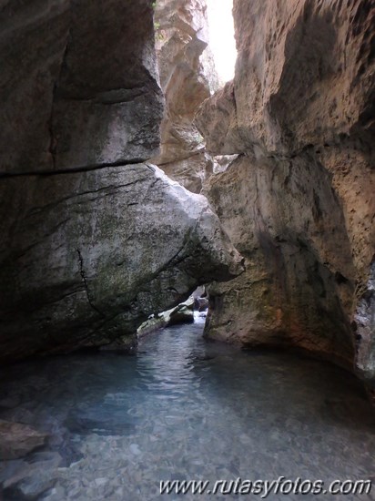
[[[280,155],[360,130],[369,139],[375,127],[374,6],[291,0],[278,2],[277,12],[273,0],[234,1],[236,75],[216,105],[226,132],[215,137],[218,115],[208,114],[204,125],[211,148],[215,143],[218,153],[226,137],[236,153],[241,141],[242,149]],[[203,113],[212,106],[204,103]]]

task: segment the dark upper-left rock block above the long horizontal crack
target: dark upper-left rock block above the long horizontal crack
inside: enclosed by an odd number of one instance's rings
[[[2,173],[157,152],[163,98],[148,0],[11,0],[0,29]]]

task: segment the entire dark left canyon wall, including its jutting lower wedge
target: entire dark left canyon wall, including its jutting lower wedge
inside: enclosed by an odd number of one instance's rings
[[[164,101],[151,2],[10,0],[0,26],[0,358],[127,348],[240,270],[207,200],[145,163]]]

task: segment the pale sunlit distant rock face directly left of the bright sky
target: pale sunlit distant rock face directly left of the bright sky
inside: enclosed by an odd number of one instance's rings
[[[218,88],[208,47],[204,0],[157,0],[155,22],[160,83],[166,97],[160,154],[153,161],[168,176],[198,193],[212,171],[193,119]]]

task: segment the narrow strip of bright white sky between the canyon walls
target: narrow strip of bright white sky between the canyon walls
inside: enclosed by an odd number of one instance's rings
[[[207,0],[209,46],[214,54],[218,77],[228,82],[234,77],[236,42],[234,39],[233,0]]]

